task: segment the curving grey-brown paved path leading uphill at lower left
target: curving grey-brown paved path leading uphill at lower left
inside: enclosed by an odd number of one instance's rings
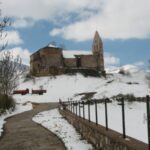
[[[65,150],[63,142],[52,132],[32,121],[37,113],[56,108],[58,104],[40,104],[7,119],[0,150]]]

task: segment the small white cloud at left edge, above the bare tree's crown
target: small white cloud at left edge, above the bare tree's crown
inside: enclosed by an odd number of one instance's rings
[[[3,34],[2,40],[0,40],[0,46],[6,43],[8,43],[8,45],[19,45],[22,44],[23,41],[17,31],[7,31]]]

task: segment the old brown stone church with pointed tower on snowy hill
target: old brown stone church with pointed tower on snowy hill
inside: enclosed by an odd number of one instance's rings
[[[79,70],[105,72],[103,43],[97,31],[91,52],[67,51],[50,44],[30,56],[30,72],[33,76],[60,75]]]

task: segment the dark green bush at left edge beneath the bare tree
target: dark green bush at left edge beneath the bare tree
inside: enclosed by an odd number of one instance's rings
[[[0,110],[15,109],[15,101],[11,96],[0,94]]]

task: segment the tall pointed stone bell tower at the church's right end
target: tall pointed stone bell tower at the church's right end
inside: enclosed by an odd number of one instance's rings
[[[95,36],[92,44],[92,52],[96,59],[97,70],[103,72],[104,71],[103,42],[99,36],[98,31],[95,32]]]

